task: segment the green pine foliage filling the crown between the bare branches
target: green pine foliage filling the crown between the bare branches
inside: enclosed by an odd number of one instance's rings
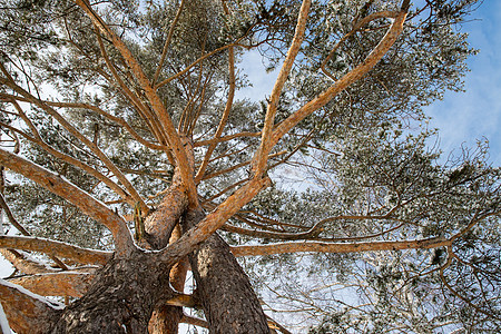
[[[156,195],[171,183],[174,167],[164,151],[141,145],[112,120],[119,117],[145,140],[167,145],[141,116],[151,106],[124,57],[100,36],[102,52],[90,19],[72,1],[3,2],[1,63],[17,85],[36,98],[100,108],[101,114],[85,107],[53,107],[109,157],[154,208],[161,198]],[[471,333],[493,333],[501,327],[501,171],[489,166],[485,143],[464,148],[456,157],[441,157],[433,148],[436,131],[428,128],[423,111],[446,90],[463,88],[465,60],[475,50],[455,24],[468,17],[474,1],[424,2],[424,9],[411,7],[402,36],[370,73],[278,143],[273,154],[281,155],[271,159],[268,170],[274,185],[229,219],[229,225],[244,230],[225,232],[225,237],[232,245],[456,237],[449,248],[436,250],[242,259],[273,317],[299,323],[298,331],[436,333],[464,327]],[[226,106],[229,75],[225,47],[237,43],[236,88],[246,87],[245,65],[238,60],[254,50],[263,56],[265,68],[278,68],[301,6],[297,0],[225,3],[229,13],[222,1],[185,1],[155,82],[220,49],[157,90],[175,125],[195,143],[214,137]],[[276,124],[333,85],[332,78],[354,69],[377,46],[386,19],[373,20],[346,38],[325,63],[330,76],[322,71],[322,62],[357,20],[382,10],[399,10],[400,4],[396,0],[313,1],[305,40],[278,102]],[[179,1],[92,6],[151,79]],[[114,76],[137,101],[131,101]],[[23,157],[63,176],[117,213],[132,212],[104,183],[30,140],[38,134],[57,151],[114,177],[110,168],[47,110],[21,101],[35,131],[8,95],[17,94],[0,86],[2,139],[19,137]],[[236,99],[223,135],[261,131],[267,104],[266,99]],[[12,127],[18,130],[16,136]],[[206,170],[206,176],[217,176],[198,185],[207,210],[233,194],[235,183],[248,178],[245,163],[253,158],[258,143],[258,137],[244,136],[217,145]],[[197,167],[206,151],[207,146],[195,148]],[[243,167],[230,169],[235,166]],[[218,175],[226,169],[230,170]],[[107,230],[61,198],[10,173],[7,183],[9,205],[35,235],[86,247],[112,247]],[[281,318],[281,312],[273,312],[279,310],[294,315]]]

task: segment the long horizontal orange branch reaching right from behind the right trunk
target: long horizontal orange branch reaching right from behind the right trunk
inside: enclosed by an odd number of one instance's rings
[[[375,252],[375,250],[399,250],[399,249],[428,249],[451,245],[452,242],[435,237],[419,240],[405,242],[367,242],[367,243],[281,243],[257,246],[235,246],[232,253],[235,256],[257,256],[274,255],[285,253],[355,253],[355,252]]]

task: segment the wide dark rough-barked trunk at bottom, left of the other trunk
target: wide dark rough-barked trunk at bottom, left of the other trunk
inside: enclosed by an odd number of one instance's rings
[[[173,296],[169,267],[151,254],[112,258],[88,293],[68,306],[52,333],[148,333],[155,305]]]

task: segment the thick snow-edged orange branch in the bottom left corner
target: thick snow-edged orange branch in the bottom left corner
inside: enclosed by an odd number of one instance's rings
[[[17,333],[48,333],[51,318],[63,306],[0,278],[0,301]]]

